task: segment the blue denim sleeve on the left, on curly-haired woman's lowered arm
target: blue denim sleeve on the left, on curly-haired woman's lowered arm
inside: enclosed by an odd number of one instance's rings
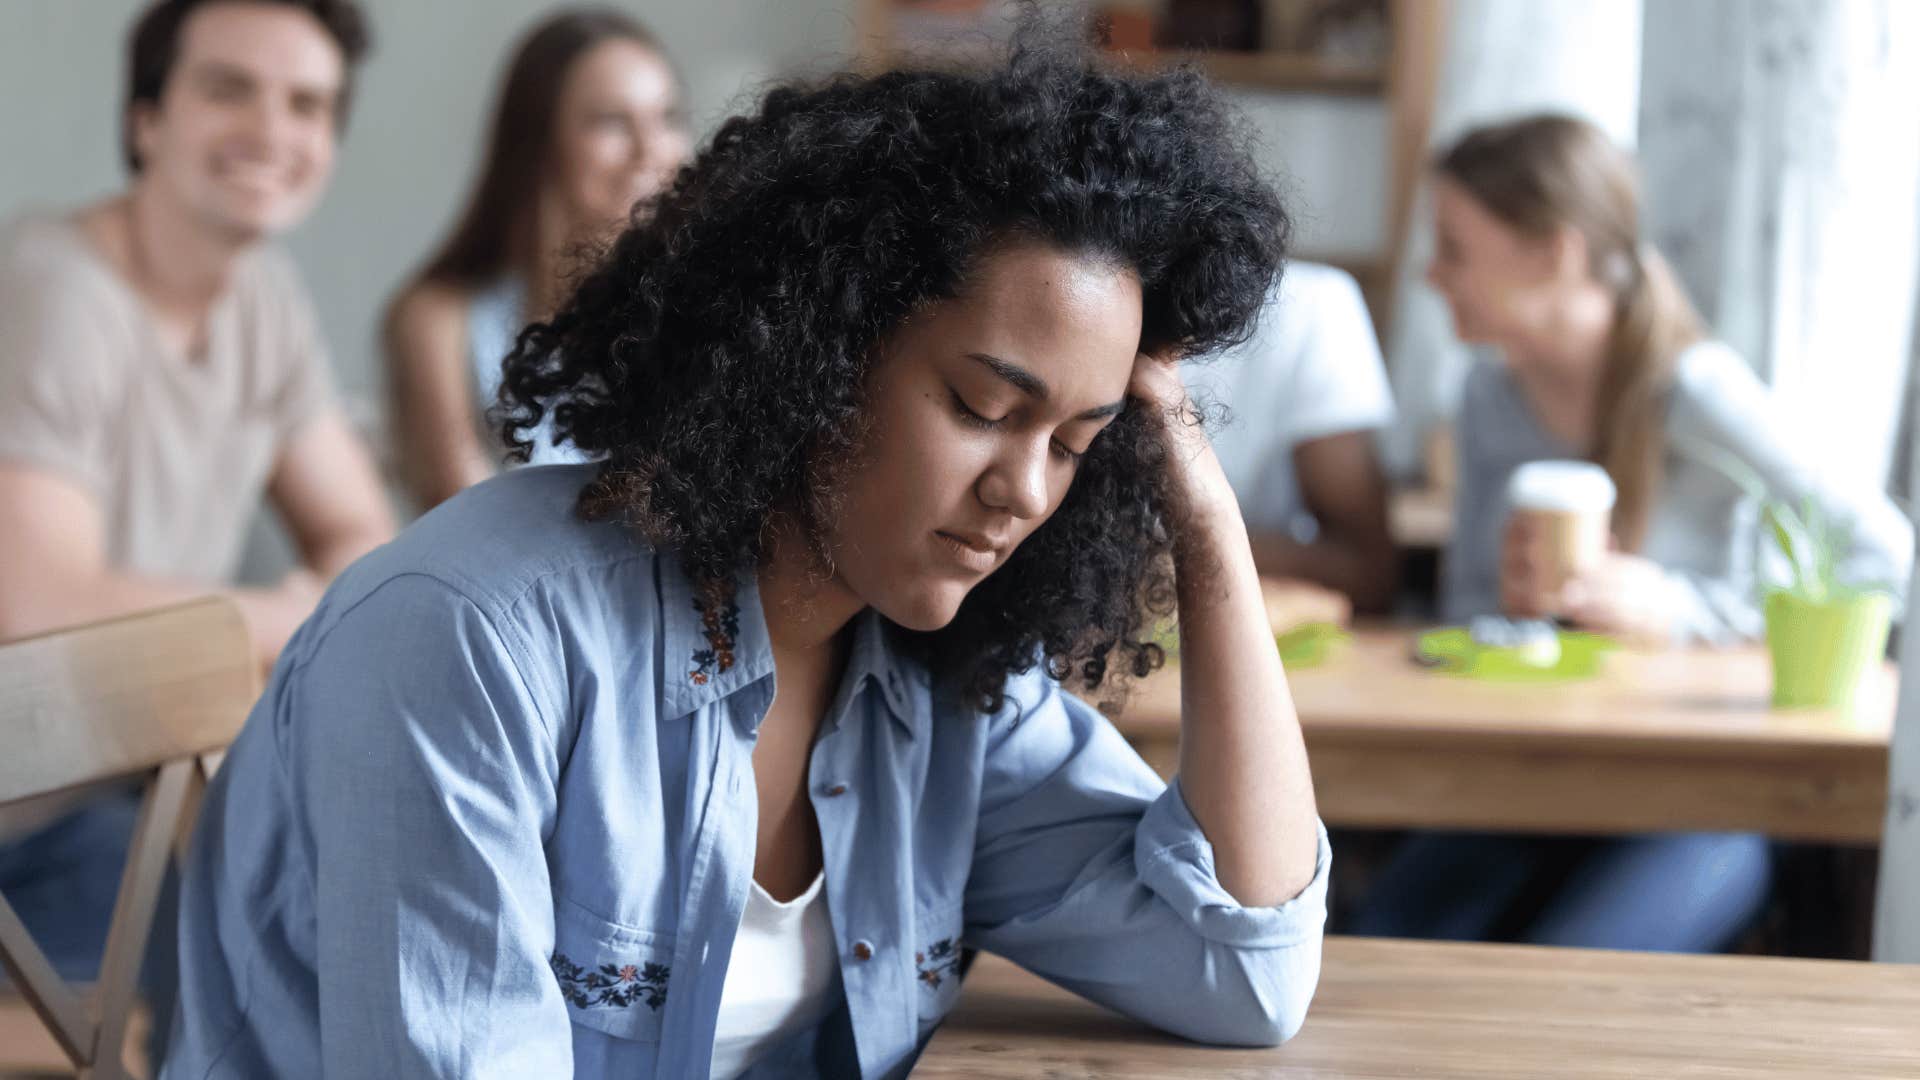
[[[541,846],[557,749],[507,642],[407,575],[290,678],[326,1074],[570,1076]]]

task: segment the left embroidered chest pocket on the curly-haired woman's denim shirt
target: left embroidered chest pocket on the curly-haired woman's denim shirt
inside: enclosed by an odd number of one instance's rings
[[[553,924],[553,978],[568,1019],[614,1038],[660,1040],[660,1015],[672,992],[674,940],[609,922],[559,901]]]

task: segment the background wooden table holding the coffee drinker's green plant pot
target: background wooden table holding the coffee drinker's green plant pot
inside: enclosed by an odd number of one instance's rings
[[[1597,678],[1519,686],[1423,669],[1413,638],[1363,626],[1327,663],[1288,673],[1331,824],[1880,836],[1891,665],[1849,713],[1780,711],[1761,648],[1619,651]],[[1171,771],[1177,669],[1108,713]]]

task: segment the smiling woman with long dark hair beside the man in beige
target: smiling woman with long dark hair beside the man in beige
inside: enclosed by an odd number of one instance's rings
[[[499,467],[482,413],[515,336],[559,306],[582,254],[666,186],[687,142],[680,77],[632,17],[563,10],[520,42],[467,209],[386,315],[401,473],[422,507]],[[532,459],[578,454],[541,432]]]

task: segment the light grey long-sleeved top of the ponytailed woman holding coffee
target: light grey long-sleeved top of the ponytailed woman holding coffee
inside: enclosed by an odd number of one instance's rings
[[[1446,552],[1442,617],[1500,611],[1500,544],[1507,480],[1526,461],[1578,457],[1534,417],[1503,363],[1467,377],[1455,423],[1459,492]],[[1763,544],[1761,507],[1732,469],[1751,473],[1799,507],[1816,502],[1843,525],[1847,584],[1907,592],[1914,530],[1874,477],[1820,477],[1795,425],[1747,361],[1720,342],[1699,342],[1674,361],[1667,396],[1667,461],[1640,553],[1674,586],[1678,642],[1732,644],[1764,634],[1761,590],[1786,580],[1786,563]],[[1728,463],[1734,463],[1732,467]]]

